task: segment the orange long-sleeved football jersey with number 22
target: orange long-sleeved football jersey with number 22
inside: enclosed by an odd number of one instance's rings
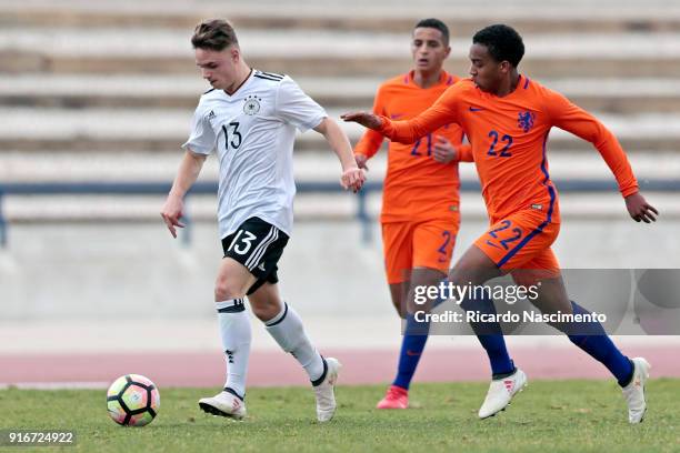
[[[410,121],[383,115],[380,132],[393,141],[410,143],[450,123],[460,124],[470,140],[491,219],[533,209],[543,211],[549,222],[560,221],[557,190],[546,158],[553,125],[598,149],[623,197],[638,191],[638,181],[616,137],[566,97],[524,76],[503,98],[483,92],[471,79],[461,80]]]

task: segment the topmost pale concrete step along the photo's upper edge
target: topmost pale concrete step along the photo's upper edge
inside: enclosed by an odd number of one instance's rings
[[[138,2],[139,3],[139,2]],[[120,1],[6,0],[0,23],[18,27],[77,28],[152,27],[191,30],[201,19],[227,17],[240,28],[346,29],[409,31],[421,17],[444,20],[456,36],[470,36],[487,23],[504,21],[524,32],[587,31],[678,31],[680,10],[676,3],[567,1],[487,1],[486,8],[464,1],[259,1],[257,3],[150,1],[139,4]]]

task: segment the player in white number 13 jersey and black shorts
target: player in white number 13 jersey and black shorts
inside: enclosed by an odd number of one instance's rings
[[[196,109],[189,140],[161,215],[172,236],[183,226],[183,198],[213,150],[220,162],[218,221],[224,258],[218,270],[214,301],[227,361],[222,392],[199,401],[211,414],[246,415],[246,375],[253,313],[286,352],[300,362],[314,389],[317,417],[336,412],[333,385],[340,363],[324,359],[304,333],[294,310],[281,301],[277,262],[292,228],[296,193],[292,148],[296,129],[321,133],[342,165],[341,185],[358,191],[364,181],[350,142],[288,76],[250,68],[233,28],[223,20],[197,26],[191,43],[196,63],[212,89]]]

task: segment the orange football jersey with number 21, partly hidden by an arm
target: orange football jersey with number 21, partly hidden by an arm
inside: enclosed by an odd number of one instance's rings
[[[391,119],[414,118],[459,80],[442,71],[439,83],[423,89],[413,82],[412,71],[398,76],[380,85],[373,112]],[[458,161],[472,160],[470,145],[461,145],[462,131],[456,124],[441,124],[429,132],[408,144],[390,142],[381,222],[447,218],[458,211]],[[432,159],[438,135],[443,135],[458,148],[461,155],[457,160],[442,164]],[[368,130],[357,143],[354,153],[371,158],[383,139],[381,133]]]

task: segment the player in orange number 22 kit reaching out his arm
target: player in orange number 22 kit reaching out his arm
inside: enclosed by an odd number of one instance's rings
[[[472,38],[471,78],[450,87],[422,114],[409,121],[392,121],[367,112],[348,113],[343,118],[404,143],[443,124],[460,124],[472,144],[491,226],[468,249],[449,280],[482,284],[506,273],[520,284],[540,279],[539,296],[533,303],[543,313],[587,314],[569,300],[550,249],[560,229],[557,190],[546,159],[550,129],[554,125],[593,143],[614,174],[633,220],[649,223],[656,221],[658,212],[640,194],[630,163],[614,135],[562,94],[520,74],[517,67],[523,53],[522,39],[512,28],[487,27]],[[489,300],[473,303],[474,310],[494,312]],[[471,305],[463,301],[462,306],[469,310]],[[607,366],[622,387],[630,423],[641,422],[647,410],[644,383],[649,363],[642,358],[630,360],[623,355],[599,322],[553,326]],[[492,370],[511,369],[510,374],[492,380],[479,411],[483,419],[504,409],[526,385],[527,376],[513,366],[498,326],[493,326],[491,334],[479,334],[474,324],[472,329],[487,350]]]

